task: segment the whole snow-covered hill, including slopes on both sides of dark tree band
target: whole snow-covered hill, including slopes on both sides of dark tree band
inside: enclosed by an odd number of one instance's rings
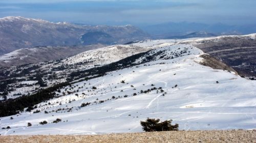
[[[255,129],[256,82],[218,60],[212,67],[219,69],[204,66],[211,62],[207,56],[192,44],[146,40],[41,63],[33,72],[70,72],[71,85],[34,108],[1,117],[0,127],[10,129],[0,134],[141,132],[147,117],[172,119],[180,130]]]

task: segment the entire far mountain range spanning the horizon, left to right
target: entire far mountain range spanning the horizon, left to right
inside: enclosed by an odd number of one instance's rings
[[[0,55],[35,46],[124,44],[145,39],[182,39],[256,33],[256,25],[167,22],[152,26],[89,26],[25,17],[0,18]]]

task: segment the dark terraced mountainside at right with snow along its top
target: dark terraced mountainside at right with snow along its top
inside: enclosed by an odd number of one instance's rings
[[[181,43],[193,44],[244,77],[256,77],[256,34],[202,38]]]

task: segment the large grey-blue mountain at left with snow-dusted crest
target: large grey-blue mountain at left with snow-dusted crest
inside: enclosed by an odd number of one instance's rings
[[[87,33],[101,32],[102,35],[90,38]],[[0,55],[11,51],[35,46],[123,44],[133,40],[144,40],[150,36],[134,26],[81,26],[67,22],[49,22],[25,17],[0,18]]]

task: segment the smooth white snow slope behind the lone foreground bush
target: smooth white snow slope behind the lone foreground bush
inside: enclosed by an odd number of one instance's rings
[[[154,51],[163,51],[165,57],[175,52],[187,53],[167,60],[158,56],[152,62],[75,83],[73,89],[65,87],[68,91],[78,92],[38,104],[39,113],[24,112],[13,115],[13,120],[10,116],[2,117],[1,128],[10,126],[11,129],[0,133],[141,132],[140,121],[147,117],[160,118],[161,121],[172,119],[173,123],[179,124],[180,130],[256,128],[255,81],[198,64],[203,52],[191,45],[167,45]],[[143,58],[136,62],[140,60]],[[125,83],[121,83],[122,80]],[[92,89],[93,86],[97,89]],[[61,92],[67,93],[65,88]],[[141,93],[141,90],[151,88],[150,92]],[[133,96],[134,93],[137,95]],[[79,107],[81,103],[91,104]],[[56,118],[62,121],[52,123]],[[42,121],[49,124],[39,125]],[[28,123],[32,126],[27,127]]]

